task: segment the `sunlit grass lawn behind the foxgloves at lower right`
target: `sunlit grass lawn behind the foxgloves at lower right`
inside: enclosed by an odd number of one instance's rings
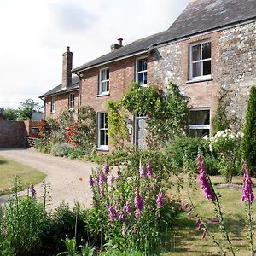
[[[187,177],[184,177],[186,180]],[[231,242],[236,249],[236,255],[250,255],[247,241],[246,217],[247,212],[245,203],[241,201],[241,188],[222,187],[219,183],[223,183],[222,177],[212,177],[212,183],[219,193],[219,199],[224,213],[224,222],[227,229],[230,231]],[[233,183],[241,183],[241,177],[235,177]],[[255,184],[255,179],[253,179]],[[179,197],[184,203],[189,202],[189,196],[192,199],[197,212],[201,218],[207,221],[209,218],[215,218],[214,205],[211,201],[207,201],[198,183],[195,184],[196,190],[188,189],[188,182],[185,182],[180,194],[177,194],[175,189],[170,192]],[[256,213],[256,201],[253,203],[253,212]],[[256,219],[256,214],[253,213],[253,220]],[[192,217],[192,216],[191,216]],[[170,241],[170,253],[165,255],[221,255],[218,252],[218,247],[213,244],[210,236],[201,238],[201,231],[197,230],[195,220],[188,218],[186,213],[182,213],[177,219],[176,227],[172,232]],[[211,224],[207,221],[210,230],[214,236],[220,241],[221,245],[226,245],[222,233],[219,231],[217,224]],[[253,221],[253,225],[255,226]],[[256,246],[256,236],[254,237]],[[227,253],[231,255],[231,253]]]

